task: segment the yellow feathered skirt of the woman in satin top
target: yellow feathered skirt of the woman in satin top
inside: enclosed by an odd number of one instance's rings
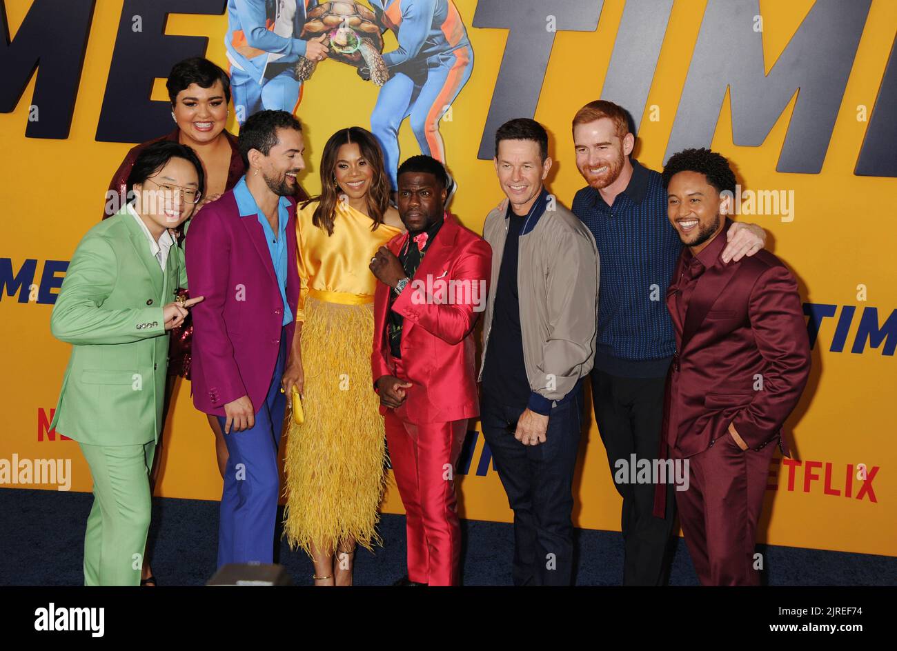
[[[386,486],[386,437],[370,377],[373,304],[305,300],[302,368],[305,421],[288,419],[283,535],[311,555],[371,550]]]

